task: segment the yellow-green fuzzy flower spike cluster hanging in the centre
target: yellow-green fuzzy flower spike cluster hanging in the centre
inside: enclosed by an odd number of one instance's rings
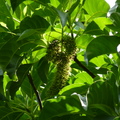
[[[75,40],[69,36],[64,36],[62,40],[53,40],[47,49],[47,59],[56,64],[56,75],[51,85],[48,87],[46,96],[51,98],[66,85],[70,76],[70,63],[76,53]]]

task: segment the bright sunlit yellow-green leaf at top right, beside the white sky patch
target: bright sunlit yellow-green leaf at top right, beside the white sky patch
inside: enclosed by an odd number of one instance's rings
[[[84,3],[84,9],[93,18],[106,16],[109,8],[105,0],[86,0]]]

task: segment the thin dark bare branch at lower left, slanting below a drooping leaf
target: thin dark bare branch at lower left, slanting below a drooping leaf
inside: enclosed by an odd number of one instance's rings
[[[36,95],[36,97],[37,97],[37,100],[38,100],[40,109],[42,110],[41,97],[40,97],[39,92],[37,91],[37,89],[36,89],[36,87],[35,87],[35,85],[34,85],[34,83],[33,83],[32,76],[31,76],[31,74],[29,74],[29,73],[28,73],[27,76],[28,76],[29,82],[30,82],[30,84],[31,84],[31,86],[32,86],[32,88],[33,88],[33,90],[34,90],[34,92],[35,92],[35,95]]]

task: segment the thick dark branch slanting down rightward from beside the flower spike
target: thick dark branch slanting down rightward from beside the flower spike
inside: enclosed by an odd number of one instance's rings
[[[86,71],[92,78],[95,78],[96,76],[88,69],[86,68],[78,59],[77,56],[74,57],[74,61],[81,67],[84,71]]]

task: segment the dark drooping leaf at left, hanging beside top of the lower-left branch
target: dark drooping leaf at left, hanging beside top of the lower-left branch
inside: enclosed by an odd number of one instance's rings
[[[19,87],[22,85],[22,83],[23,83],[25,77],[27,76],[31,66],[32,66],[31,64],[21,65],[17,69],[18,81],[10,81],[10,82],[8,82],[7,88],[8,88],[9,94],[10,94],[12,99],[14,98],[15,93],[17,92]]]

